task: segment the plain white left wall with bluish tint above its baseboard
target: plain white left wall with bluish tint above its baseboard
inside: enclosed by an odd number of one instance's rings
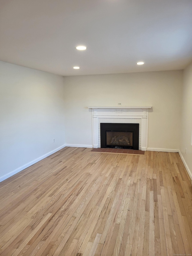
[[[64,143],[63,77],[0,62],[0,181]]]

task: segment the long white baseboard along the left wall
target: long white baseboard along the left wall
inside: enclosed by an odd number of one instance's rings
[[[5,180],[5,179],[7,179],[7,178],[9,178],[9,177],[11,177],[11,176],[13,176],[13,175],[16,174],[16,173],[19,173],[20,171],[26,169],[27,167],[29,167],[29,166],[31,166],[31,165],[33,165],[33,164],[36,164],[37,162],[41,161],[42,159],[48,157],[49,155],[52,155],[53,153],[59,151],[60,149],[63,149],[64,147],[66,147],[66,144],[64,144],[64,145],[62,145],[62,146],[60,146],[60,147],[58,147],[58,148],[56,148],[56,149],[54,149],[54,150],[52,150],[52,151],[46,153],[45,155],[42,155],[42,156],[36,158],[35,160],[33,160],[33,161],[31,161],[31,162],[29,162],[29,163],[27,163],[27,164],[24,164],[24,165],[22,165],[21,167],[19,167],[19,168],[13,170],[13,171],[11,171],[11,172],[9,172],[9,173],[7,173],[7,174],[1,176],[1,177],[0,177],[0,182],[3,181],[3,180]]]

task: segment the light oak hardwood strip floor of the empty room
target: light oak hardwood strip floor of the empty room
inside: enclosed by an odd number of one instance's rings
[[[178,153],[64,148],[0,183],[0,255],[191,255]]]

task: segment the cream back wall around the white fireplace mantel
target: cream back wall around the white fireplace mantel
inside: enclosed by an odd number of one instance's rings
[[[66,144],[92,145],[88,106],[153,106],[148,147],[179,149],[183,71],[64,77]]]

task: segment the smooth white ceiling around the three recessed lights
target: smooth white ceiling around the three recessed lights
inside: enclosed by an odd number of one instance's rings
[[[192,1],[0,0],[0,60],[63,76],[183,69]]]

